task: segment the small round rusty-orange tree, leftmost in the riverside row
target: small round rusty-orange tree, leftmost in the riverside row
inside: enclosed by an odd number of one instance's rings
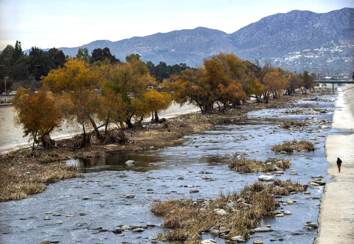
[[[29,140],[33,139],[32,152],[37,137],[49,135],[63,121],[54,97],[43,90],[32,93],[28,89],[18,89],[13,106],[17,112],[15,123],[23,127],[24,137],[29,135]]]

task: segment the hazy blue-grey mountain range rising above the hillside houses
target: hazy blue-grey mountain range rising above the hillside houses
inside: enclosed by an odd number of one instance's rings
[[[65,55],[75,56],[79,48],[92,52],[108,47],[124,60],[131,53],[139,53],[144,61],[158,64],[202,64],[204,58],[220,52],[233,52],[243,59],[269,59],[289,52],[318,48],[326,43],[354,43],[354,8],[342,8],[328,13],[292,10],[277,13],[249,24],[231,34],[198,27],[174,30],[120,41],[97,40],[80,47],[61,47]],[[47,50],[47,49],[44,49]],[[25,50],[28,52],[28,50]]]

